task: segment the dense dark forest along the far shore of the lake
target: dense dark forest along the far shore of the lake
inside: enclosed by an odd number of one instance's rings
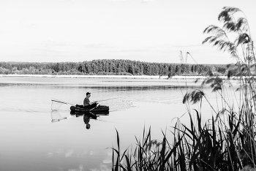
[[[0,62],[2,75],[226,75],[217,64],[169,64],[103,59],[83,62]]]

